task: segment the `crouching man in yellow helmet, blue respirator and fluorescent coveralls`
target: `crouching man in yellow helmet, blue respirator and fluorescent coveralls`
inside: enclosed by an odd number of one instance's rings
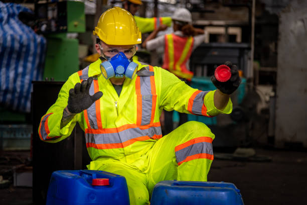
[[[135,61],[141,33],[132,15],[114,7],[104,12],[93,31],[101,57],[72,74],[58,99],[42,117],[41,140],[67,138],[78,122],[85,132],[91,170],[126,178],[130,203],[149,204],[149,195],[162,180],[206,181],[213,160],[214,134],[203,123],[188,122],[162,136],[163,109],[215,116],[232,110],[230,93],[240,83],[232,78],[217,90],[191,88],[161,67]]]

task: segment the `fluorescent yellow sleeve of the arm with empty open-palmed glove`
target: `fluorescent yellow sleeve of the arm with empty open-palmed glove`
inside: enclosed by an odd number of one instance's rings
[[[55,104],[53,104],[46,115],[42,117],[38,130],[41,140],[51,143],[61,141],[70,136],[77,121],[81,122],[81,115],[77,114],[65,127],[60,129],[63,110],[67,106],[69,90],[73,88],[77,82],[80,82],[80,80],[78,74],[75,73],[64,83]],[[84,129],[83,124],[79,124],[81,128]]]

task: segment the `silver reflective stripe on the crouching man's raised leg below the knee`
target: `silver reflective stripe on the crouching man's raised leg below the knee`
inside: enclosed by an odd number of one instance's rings
[[[212,143],[199,142],[199,143],[190,145],[186,148],[183,148],[181,150],[178,150],[175,153],[175,155],[176,155],[176,160],[179,163],[185,160],[189,156],[192,156],[195,154],[201,154],[201,153],[213,155]]]

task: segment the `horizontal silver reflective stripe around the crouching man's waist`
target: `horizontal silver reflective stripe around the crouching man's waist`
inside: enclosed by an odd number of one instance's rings
[[[113,143],[122,143],[143,136],[148,136],[151,138],[155,135],[162,135],[161,127],[150,127],[145,130],[141,130],[139,128],[130,128],[118,133],[107,133],[107,134],[85,133],[85,139],[86,143],[113,144]]]

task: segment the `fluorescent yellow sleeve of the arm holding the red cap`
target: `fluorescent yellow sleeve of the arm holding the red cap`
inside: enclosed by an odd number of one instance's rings
[[[214,106],[214,91],[198,90],[181,81],[174,74],[160,67],[155,67],[161,79],[157,82],[160,92],[160,108],[167,111],[176,110],[181,113],[213,117],[219,113],[229,114],[232,111],[232,103],[229,100],[222,111]]]

